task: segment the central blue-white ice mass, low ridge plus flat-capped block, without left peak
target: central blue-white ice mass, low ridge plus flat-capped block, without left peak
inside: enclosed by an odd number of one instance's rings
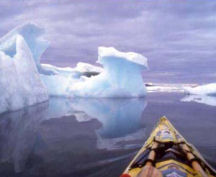
[[[146,94],[141,73],[148,68],[144,56],[99,47],[97,62],[103,68],[87,63],[78,63],[75,68],[42,64],[46,72],[41,73],[41,79],[51,96],[142,97]]]

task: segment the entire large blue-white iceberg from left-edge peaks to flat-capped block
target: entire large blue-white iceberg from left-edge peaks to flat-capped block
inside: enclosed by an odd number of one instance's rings
[[[142,97],[146,94],[142,71],[147,59],[112,47],[98,48],[98,63],[75,68],[41,64],[48,48],[44,30],[27,23],[0,39],[0,113],[66,97]]]

